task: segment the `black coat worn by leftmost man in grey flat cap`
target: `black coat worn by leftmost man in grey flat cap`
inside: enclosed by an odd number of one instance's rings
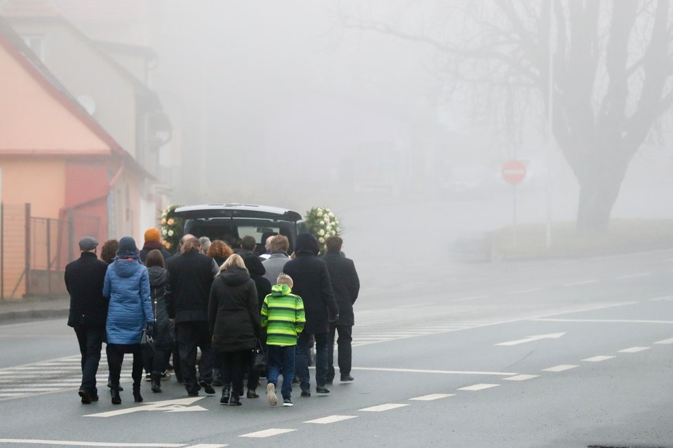
[[[65,287],[70,293],[68,326],[86,325],[105,328],[107,305],[103,297],[107,263],[94,252],[82,252],[77,260],[65,266]]]

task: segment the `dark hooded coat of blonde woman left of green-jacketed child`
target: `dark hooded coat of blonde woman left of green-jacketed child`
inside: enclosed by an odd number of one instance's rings
[[[213,350],[237,352],[257,346],[261,335],[255,282],[244,269],[231,267],[213,281],[208,306]]]

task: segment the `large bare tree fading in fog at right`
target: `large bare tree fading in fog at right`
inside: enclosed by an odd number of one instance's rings
[[[544,117],[551,101],[553,135],[580,185],[577,229],[606,232],[630,160],[673,102],[669,1],[414,1],[405,12],[427,6],[421,31],[405,28],[405,14],[341,20],[429,45],[442,56],[440,75],[475,89],[482,111],[518,113],[522,124],[535,114],[519,106],[537,104]],[[433,29],[438,21],[452,30]]]

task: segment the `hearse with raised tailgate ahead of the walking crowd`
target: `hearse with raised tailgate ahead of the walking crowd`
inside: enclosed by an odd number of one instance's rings
[[[301,214],[285,208],[249,204],[202,204],[178,207],[169,216],[184,219],[183,234],[197,238],[224,240],[238,247],[241,239],[250,235],[257,241],[257,249],[264,253],[264,243],[270,234],[288,237],[292,253],[297,235],[306,232]]]

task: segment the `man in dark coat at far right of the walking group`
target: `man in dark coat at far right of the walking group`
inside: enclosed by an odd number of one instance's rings
[[[330,334],[328,338],[328,373],[327,381],[332,383],[334,380],[334,333],[339,333],[339,339],[336,344],[339,345],[339,373],[341,381],[353,381],[350,375],[352,363],[352,342],[353,325],[355,318],[353,315],[353,304],[358,298],[360,291],[360,279],[355,270],[355,264],[350,258],[345,258],[341,254],[341,245],[343,240],[339,236],[330,236],[325,242],[327,252],[323,260],[327,263],[327,269],[330,272],[330,281],[336,297],[336,304],[339,305],[339,320],[330,323]]]

